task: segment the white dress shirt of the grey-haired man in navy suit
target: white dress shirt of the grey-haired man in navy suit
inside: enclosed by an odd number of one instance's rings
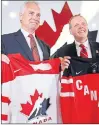
[[[23,35],[24,35],[24,37],[25,37],[25,39],[26,39],[26,42],[27,42],[29,48],[31,49],[30,38],[28,37],[29,33],[28,33],[27,31],[25,31],[24,29],[22,29],[22,28],[21,28],[21,32],[23,33]],[[34,37],[34,39],[35,39],[35,41],[36,41],[38,53],[39,53],[39,56],[40,56],[40,61],[42,61],[42,60],[43,60],[43,52],[42,52],[42,50],[41,50],[40,45],[39,45],[38,42],[37,42],[37,39],[35,38],[35,33],[33,33],[32,35],[33,35],[33,37]]]

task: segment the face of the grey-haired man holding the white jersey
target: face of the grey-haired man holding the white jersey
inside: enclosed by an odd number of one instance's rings
[[[23,14],[20,14],[22,28],[35,31],[40,24],[40,8],[35,3],[26,4]]]

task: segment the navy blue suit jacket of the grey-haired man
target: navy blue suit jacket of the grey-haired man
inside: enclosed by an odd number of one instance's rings
[[[43,59],[49,59],[50,48],[47,44],[41,41],[38,37],[37,41],[43,52]],[[1,53],[3,54],[15,54],[20,53],[26,59],[33,61],[32,51],[29,48],[24,35],[21,30],[18,30],[15,33],[2,35],[2,44],[1,44]]]

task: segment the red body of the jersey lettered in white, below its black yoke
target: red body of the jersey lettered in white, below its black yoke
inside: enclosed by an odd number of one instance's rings
[[[61,93],[74,92],[74,96],[60,96],[63,123],[99,123],[99,74],[70,76],[62,79],[71,78],[73,83],[61,84]],[[82,82],[77,84],[77,80]],[[94,95],[96,92],[96,98],[92,96],[92,91]]]

